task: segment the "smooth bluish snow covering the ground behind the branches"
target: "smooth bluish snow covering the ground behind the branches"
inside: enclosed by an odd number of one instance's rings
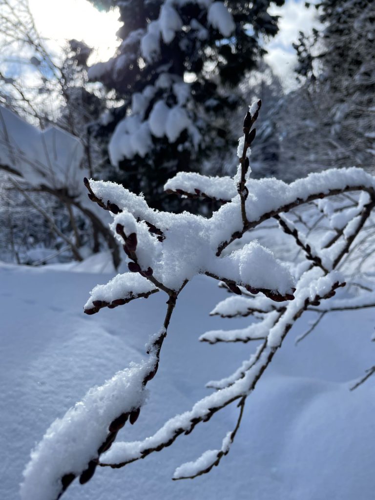
[[[88,263],[40,268],[0,265],[0,498],[16,500],[31,448],[50,423],[87,389],[139,362],[149,333],[159,328],[160,292],[94,316],[82,312],[88,292],[113,275],[100,257]],[[153,433],[177,412],[208,394],[247,358],[253,344],[199,343],[209,329],[238,328],[249,318],[208,313],[228,296],[198,276],[181,292],[161,352],[149,399],[119,440]],[[368,500],[375,489],[375,388],[373,379],[350,392],[350,380],[374,362],[370,337],[375,311],[328,313],[297,346],[315,318],[305,313],[245,405],[229,454],[209,474],[172,481],[175,468],[221,446],[234,427],[232,405],[199,424],[169,448],[123,469],[97,469],[77,481],[71,500]]]

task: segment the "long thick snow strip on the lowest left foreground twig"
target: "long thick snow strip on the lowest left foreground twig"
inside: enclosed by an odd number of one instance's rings
[[[79,474],[89,460],[97,457],[110,422],[144,402],[143,377],[150,366],[149,360],[117,372],[103,385],[91,388],[51,424],[24,470],[22,500],[56,498],[60,478],[68,473]]]

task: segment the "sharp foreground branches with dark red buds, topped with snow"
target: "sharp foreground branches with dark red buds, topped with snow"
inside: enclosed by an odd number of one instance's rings
[[[296,319],[306,309],[321,314],[329,309],[374,304],[374,294],[364,282],[356,283],[360,285],[359,295],[349,290],[345,298],[331,301],[332,305],[325,305],[325,300],[336,291],[341,292],[346,282],[354,286],[354,280],[348,280],[341,267],[349,250],[362,241],[358,240],[362,228],[366,238],[365,224],[375,206],[375,178],[361,169],[348,168],[310,174],[291,184],[274,178],[251,179],[249,153],[259,107],[257,101],[246,113],[234,178],[180,173],[165,185],[181,195],[220,200],[221,207],[210,218],[187,212],[156,211],[142,196],[120,185],[84,180],[89,198],[112,213],[111,228],[123,245],[129,269],[108,283],[95,286],[84,311],[94,314],[102,307],[113,308],[161,292],[167,296],[165,318],[158,331],[150,336],[142,362],[133,363],[103,385],[91,388],[82,401],[52,423],[32,451],[24,471],[21,486],[24,500],[59,498],[75,477],[83,484],[98,465],[122,467],[159,451],[235,402],[239,407],[238,420],[222,444],[206,451],[195,462],[178,467],[173,478],[208,472],[228,453],[247,397]],[[337,198],[348,192],[348,197]],[[300,210],[305,211],[301,214]],[[289,214],[285,215],[286,212]],[[329,225],[312,240],[309,237],[312,228],[322,228],[319,224],[323,217]],[[296,244],[299,258],[293,255],[288,259],[289,264],[275,258],[269,249],[251,238],[251,231],[256,233],[258,226],[270,219],[275,219]],[[245,244],[236,245],[245,234],[249,236]],[[234,373],[209,382],[207,386],[213,392],[190,410],[170,418],[144,440],[114,443],[125,422],[133,424],[138,418],[146,396],[145,387],[158,369],[177,297],[198,273],[216,279],[233,294],[220,302],[212,314],[254,314],[258,318],[258,322],[245,329],[209,331],[200,340],[260,343]]]

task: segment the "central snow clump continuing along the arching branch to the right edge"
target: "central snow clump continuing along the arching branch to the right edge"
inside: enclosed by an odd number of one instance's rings
[[[185,176],[183,178],[186,179]],[[297,199],[303,201],[313,194],[344,189],[346,185],[373,187],[373,183],[372,176],[357,168],[310,174],[291,184],[274,178],[250,179],[245,204],[247,217],[249,222],[256,223],[265,213],[278,210]],[[278,262],[269,250],[255,241],[224,257],[215,256],[218,246],[228,240],[234,231],[242,229],[238,195],[232,198],[231,203],[221,206],[211,218],[205,219],[186,212],[173,214],[152,210],[141,196],[111,182],[91,180],[90,185],[104,202],[110,200],[133,215],[133,232],[138,233],[139,226],[139,231],[148,238],[144,241],[149,242],[147,248],[150,255],[144,256],[142,265],[151,267],[155,277],[168,288],[178,290],[185,279],[208,271],[219,278],[233,279],[237,284],[290,293],[293,279],[286,265]],[[145,236],[145,226],[136,222],[138,219],[159,228],[165,235],[162,243],[153,236]],[[228,220],[231,224],[226,223]],[[343,244],[338,240],[337,247],[332,247],[329,255],[341,251]]]

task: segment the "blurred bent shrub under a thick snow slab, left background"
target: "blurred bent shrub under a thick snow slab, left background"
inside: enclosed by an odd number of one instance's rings
[[[3,183],[17,191],[13,198],[18,196],[18,202],[19,198],[25,198],[23,211],[31,206],[41,214],[76,260],[83,258],[79,250],[81,240],[85,239],[83,243],[87,246],[93,241],[94,246],[100,234],[117,267],[120,261],[118,245],[107,227],[106,214],[98,216],[94,213],[80,180],[88,174],[88,169],[82,166],[83,155],[84,148],[78,137],[54,125],[40,130],[10,109],[0,106],[0,170],[4,172]],[[52,197],[58,209],[52,210],[52,202],[44,209],[48,197]],[[68,223],[64,222],[66,218]],[[83,226],[80,231],[79,221]],[[9,223],[4,220],[4,225]],[[37,242],[41,242],[40,232],[39,237]]]

